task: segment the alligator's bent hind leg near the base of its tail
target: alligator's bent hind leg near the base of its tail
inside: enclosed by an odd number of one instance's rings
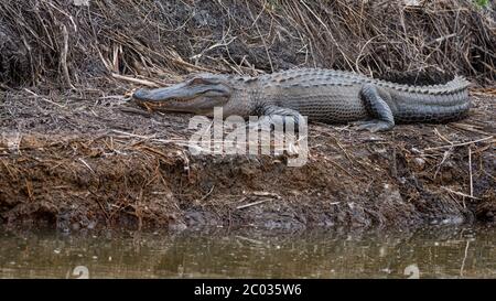
[[[366,84],[362,87],[360,96],[373,119],[355,122],[358,130],[367,129],[376,132],[390,130],[395,127],[395,117],[392,116],[391,108],[384,99],[385,97],[389,97],[387,92],[379,93],[375,85]]]

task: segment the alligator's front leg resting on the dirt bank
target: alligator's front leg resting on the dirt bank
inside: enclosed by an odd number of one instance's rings
[[[259,119],[256,122],[250,122],[250,128],[288,130],[289,126],[293,125],[292,129],[299,131],[300,126],[306,123],[306,120],[299,111],[273,105],[262,105],[255,112]]]

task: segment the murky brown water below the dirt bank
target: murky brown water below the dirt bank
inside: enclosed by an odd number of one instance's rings
[[[496,228],[0,232],[1,278],[496,278]]]

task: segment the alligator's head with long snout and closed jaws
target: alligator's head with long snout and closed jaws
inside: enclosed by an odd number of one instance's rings
[[[224,75],[201,74],[183,83],[157,89],[139,89],[132,98],[141,106],[161,111],[213,115],[231,96],[233,88]]]

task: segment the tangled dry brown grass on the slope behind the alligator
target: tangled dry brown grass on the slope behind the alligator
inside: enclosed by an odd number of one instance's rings
[[[471,1],[89,2],[1,1],[0,89],[303,65],[386,77],[435,71],[484,85],[496,76],[494,11]]]

